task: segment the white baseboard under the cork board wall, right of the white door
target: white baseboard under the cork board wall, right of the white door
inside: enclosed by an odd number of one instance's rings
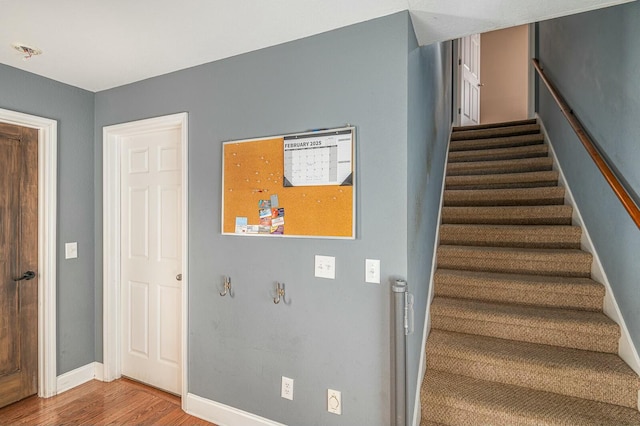
[[[187,394],[185,411],[219,426],[285,426],[192,393]]]

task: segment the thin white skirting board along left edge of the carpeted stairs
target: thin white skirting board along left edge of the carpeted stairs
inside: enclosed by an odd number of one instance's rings
[[[427,371],[427,337],[431,331],[431,301],[433,300],[433,276],[436,273],[438,246],[440,245],[440,222],[442,221],[442,206],[444,204],[444,188],[447,178],[447,164],[449,163],[449,145],[451,144],[451,133],[453,132],[453,123],[449,128],[449,136],[447,138],[447,146],[444,157],[444,168],[442,169],[442,186],[440,188],[440,207],[438,208],[438,219],[436,221],[436,236],[433,242],[433,257],[431,258],[431,276],[429,277],[429,294],[427,294],[427,309],[425,310],[424,328],[422,330],[422,349],[420,353],[420,369],[418,371],[418,384],[416,389],[416,400],[414,401],[413,422],[414,426],[420,424],[422,418],[422,406],[420,405],[420,389],[424,374]],[[407,419],[408,420],[408,419]]]

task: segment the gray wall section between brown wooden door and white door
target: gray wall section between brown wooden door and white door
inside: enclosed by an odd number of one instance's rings
[[[0,108],[58,122],[57,374],[95,360],[94,94],[0,64]],[[78,259],[64,260],[64,243]]]

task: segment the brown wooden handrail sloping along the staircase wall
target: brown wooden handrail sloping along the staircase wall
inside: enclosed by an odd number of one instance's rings
[[[551,93],[551,96],[553,96],[553,99],[555,99],[556,103],[560,107],[560,111],[562,111],[562,113],[564,114],[565,118],[569,122],[569,125],[571,125],[571,128],[576,133],[576,136],[578,136],[578,139],[580,139],[580,142],[582,142],[582,145],[584,145],[585,149],[591,156],[591,159],[596,163],[596,166],[598,166],[598,169],[600,169],[600,172],[604,176],[609,186],[611,186],[611,188],[613,189],[613,192],[616,194],[625,210],[627,210],[627,213],[629,213],[629,216],[631,216],[631,219],[635,222],[636,226],[640,228],[640,208],[638,208],[636,202],[633,200],[633,198],[631,198],[629,192],[625,189],[624,185],[622,185],[614,171],[607,164],[607,161],[600,154],[598,148],[593,143],[589,135],[587,135],[587,132],[585,131],[582,124],[580,124],[580,121],[573,113],[573,110],[569,107],[562,95],[560,95],[558,89],[556,89],[553,83],[545,75],[542,67],[540,66],[540,62],[535,58],[531,59],[531,61],[533,62],[533,66],[535,67],[536,71],[538,71],[540,79],[544,82],[544,84],[546,84],[549,92]]]

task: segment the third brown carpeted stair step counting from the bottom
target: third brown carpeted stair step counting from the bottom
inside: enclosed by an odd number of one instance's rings
[[[435,297],[433,329],[617,353],[620,329],[600,312]]]

